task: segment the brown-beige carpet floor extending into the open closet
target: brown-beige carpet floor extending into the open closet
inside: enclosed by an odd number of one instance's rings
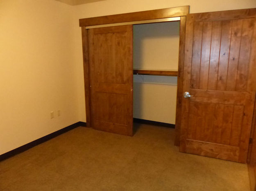
[[[0,162],[0,191],[249,191],[246,164],[179,153],[174,129],[78,127]]]

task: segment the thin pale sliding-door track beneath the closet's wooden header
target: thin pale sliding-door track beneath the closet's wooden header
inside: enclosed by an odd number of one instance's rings
[[[93,29],[93,28],[100,28],[100,27],[113,27],[113,26],[121,26],[127,24],[145,24],[145,23],[155,23],[155,22],[168,22],[168,21],[179,21],[181,20],[180,17],[171,17],[171,18],[163,18],[163,19],[152,19],[152,20],[139,20],[133,22],[119,22],[113,24],[100,24],[100,25],[93,25],[85,27],[86,29]]]

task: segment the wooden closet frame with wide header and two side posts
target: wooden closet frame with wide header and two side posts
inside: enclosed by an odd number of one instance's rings
[[[162,18],[181,17],[180,19],[180,36],[179,36],[179,64],[177,79],[177,106],[175,120],[175,145],[179,146],[179,129],[181,124],[181,100],[183,84],[183,65],[184,65],[184,48],[185,48],[185,29],[186,15],[189,13],[189,6],[172,7],[166,9],[155,9],[150,11],[139,11],[133,13],[123,13],[117,15],[100,16],[93,18],[79,19],[79,26],[82,28],[82,47],[84,62],[84,90],[86,103],[86,124],[91,127],[91,92],[90,92],[90,72],[89,72],[89,55],[88,55],[88,29],[86,27],[101,24],[114,24],[120,22],[133,22],[141,20],[154,20]]]

